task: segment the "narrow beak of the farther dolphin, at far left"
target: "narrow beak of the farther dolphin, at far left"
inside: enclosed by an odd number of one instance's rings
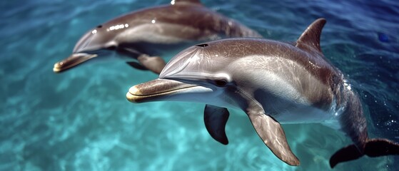
[[[68,58],[65,58],[64,60],[55,63],[53,71],[54,71],[54,73],[61,73],[63,71],[66,71],[69,68],[72,68],[72,67],[77,66],[77,65],[79,65],[81,63],[84,63],[84,61],[87,61],[87,60],[89,60],[91,58],[94,58],[96,56],[97,56],[97,54],[73,53]]]

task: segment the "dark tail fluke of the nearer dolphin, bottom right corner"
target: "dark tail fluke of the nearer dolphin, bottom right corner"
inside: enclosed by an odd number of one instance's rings
[[[358,147],[349,145],[343,147],[334,153],[330,158],[330,167],[333,168],[340,162],[355,160],[363,155],[368,157],[379,157],[383,155],[399,155],[399,144],[387,139],[369,139],[365,143],[364,153],[362,154]]]

